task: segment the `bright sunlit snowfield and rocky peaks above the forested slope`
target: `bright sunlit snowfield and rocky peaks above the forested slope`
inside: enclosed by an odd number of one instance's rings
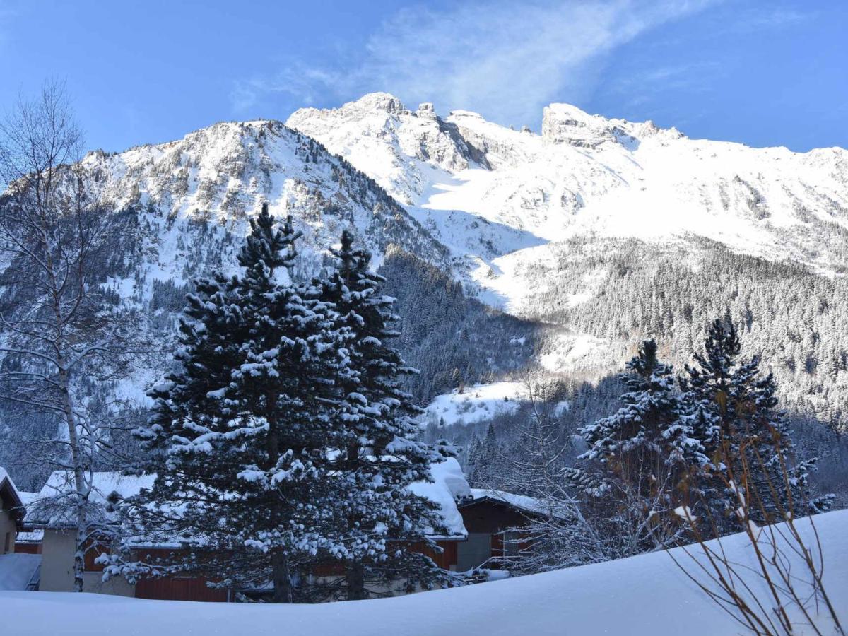
[[[522,303],[510,289],[522,281],[511,280],[511,261],[547,258],[545,243],[575,236],[707,237],[823,271],[846,264],[848,153],[840,148],[791,153],[691,140],[567,104],[544,109],[537,135],[466,111],[442,120],[430,104],[410,111],[385,93],[301,109],[287,125],[371,175],[425,226],[458,215],[497,224],[488,249],[471,255],[477,281],[512,310]],[[459,232],[455,224],[439,234],[460,248]]]

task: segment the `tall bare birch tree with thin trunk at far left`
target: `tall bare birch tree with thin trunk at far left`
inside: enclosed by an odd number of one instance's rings
[[[60,82],[19,98],[0,122],[0,397],[61,425],[52,459],[72,486],[77,591],[91,472],[111,427],[92,386],[122,377],[131,353],[126,324],[103,294],[109,218],[88,192],[81,151]]]

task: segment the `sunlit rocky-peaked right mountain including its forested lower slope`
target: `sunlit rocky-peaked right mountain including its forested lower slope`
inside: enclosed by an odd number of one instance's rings
[[[620,368],[649,335],[679,366],[730,315],[784,397],[848,416],[845,149],[695,140],[562,103],[536,134],[386,93],[287,126],[403,204],[471,293],[554,325],[536,350],[550,371]]]

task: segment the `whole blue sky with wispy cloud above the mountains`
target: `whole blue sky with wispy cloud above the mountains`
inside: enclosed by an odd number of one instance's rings
[[[0,0],[0,109],[64,78],[91,148],[387,91],[538,131],[542,108],[848,147],[848,2]]]

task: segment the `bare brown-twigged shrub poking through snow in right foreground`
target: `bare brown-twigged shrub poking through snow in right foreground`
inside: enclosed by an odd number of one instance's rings
[[[809,502],[793,498],[794,473],[778,432],[771,428],[764,433],[769,434],[770,439],[750,438],[739,447],[722,440],[719,451],[727,470],[717,479],[735,496],[731,514],[744,528],[750,562],[728,555],[720,520],[698,519],[689,505],[677,512],[696,544],[681,548],[686,558],[668,554],[701,591],[756,636],[791,636],[799,630],[844,634],[840,612],[824,586],[825,561],[814,517],[796,516],[809,511]],[[760,441],[762,448],[773,446],[773,458],[762,455]],[[778,462],[777,471],[767,470],[772,461]],[[697,503],[709,510],[705,502]],[[771,522],[757,525],[755,519],[763,518]]]

